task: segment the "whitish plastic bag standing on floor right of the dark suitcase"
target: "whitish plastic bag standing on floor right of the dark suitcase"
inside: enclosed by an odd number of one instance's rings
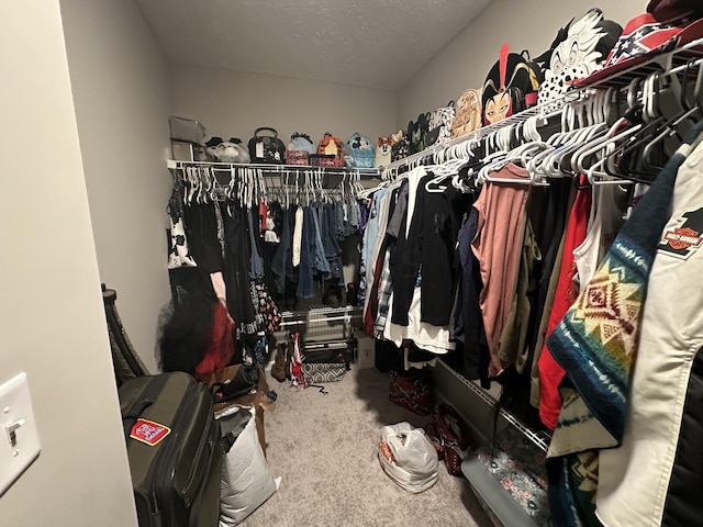
[[[256,431],[254,408],[230,406],[215,414],[222,427],[220,527],[237,525],[263,505],[281,479],[271,475]]]

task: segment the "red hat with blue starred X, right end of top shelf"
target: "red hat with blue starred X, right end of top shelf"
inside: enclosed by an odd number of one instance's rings
[[[690,11],[656,10],[640,14],[627,22],[603,69],[576,80],[573,86],[583,88],[594,85],[701,37],[703,19],[698,19]]]

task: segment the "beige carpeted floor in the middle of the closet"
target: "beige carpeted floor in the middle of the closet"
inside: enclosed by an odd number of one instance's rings
[[[295,391],[268,378],[278,393],[265,414],[267,458],[279,491],[244,527],[487,527],[491,523],[464,478],[439,464],[432,489],[412,494],[381,469],[377,445],[383,425],[428,419],[388,401],[388,377],[354,368],[328,394]]]

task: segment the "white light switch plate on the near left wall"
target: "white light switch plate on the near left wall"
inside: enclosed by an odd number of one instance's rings
[[[0,496],[41,452],[26,373],[0,385]]]

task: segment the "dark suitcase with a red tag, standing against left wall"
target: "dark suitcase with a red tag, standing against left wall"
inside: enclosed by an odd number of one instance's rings
[[[223,451],[208,388],[172,372],[119,395],[140,527],[216,527]]]

